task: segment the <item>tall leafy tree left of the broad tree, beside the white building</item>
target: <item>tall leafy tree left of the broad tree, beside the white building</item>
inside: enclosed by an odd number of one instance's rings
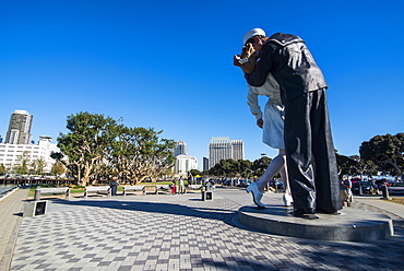
[[[120,125],[110,117],[86,111],[69,116],[67,122],[69,132],[58,138],[61,153],[51,156],[66,164],[79,185],[92,185],[103,169],[106,152],[117,138]]]

